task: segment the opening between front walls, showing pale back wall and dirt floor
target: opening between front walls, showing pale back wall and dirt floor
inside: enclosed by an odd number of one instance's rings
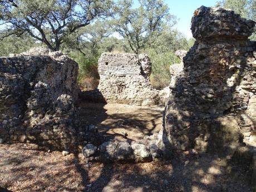
[[[163,92],[150,85],[146,54],[103,53],[99,86],[80,96],[80,117],[104,141],[141,141],[163,125]]]

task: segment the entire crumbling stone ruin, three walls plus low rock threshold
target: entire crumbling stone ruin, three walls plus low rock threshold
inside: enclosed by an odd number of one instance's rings
[[[173,75],[163,130],[141,143],[86,145],[90,159],[150,161],[170,150],[209,151],[232,142],[255,143],[255,23],[221,8],[200,7],[192,18],[196,42]],[[185,52],[184,52],[185,53]],[[37,55],[37,56],[33,56]],[[77,63],[60,52],[32,50],[0,58],[0,134],[56,149],[84,141],[77,100]],[[104,53],[99,91],[107,102],[158,104],[166,90],[150,85],[146,55]],[[170,148],[169,148],[170,146]]]

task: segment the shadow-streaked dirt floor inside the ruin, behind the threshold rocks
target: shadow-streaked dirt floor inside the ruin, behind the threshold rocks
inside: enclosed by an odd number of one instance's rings
[[[164,106],[130,106],[81,102],[81,116],[95,125],[107,139],[139,141],[145,135],[159,132],[163,124]],[[127,135],[124,138],[124,135]]]

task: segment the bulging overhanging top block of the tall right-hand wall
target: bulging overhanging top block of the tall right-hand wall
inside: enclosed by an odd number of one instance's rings
[[[254,21],[242,18],[234,11],[204,6],[196,9],[191,23],[196,40],[213,36],[247,38],[252,35],[255,26]]]

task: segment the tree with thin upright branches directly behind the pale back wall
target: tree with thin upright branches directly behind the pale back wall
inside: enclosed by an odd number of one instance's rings
[[[115,8],[116,19],[112,27],[129,43],[138,54],[142,48],[150,47],[157,38],[172,27],[176,19],[169,13],[162,0],[141,0],[139,8],[132,8],[132,1],[119,1]]]

